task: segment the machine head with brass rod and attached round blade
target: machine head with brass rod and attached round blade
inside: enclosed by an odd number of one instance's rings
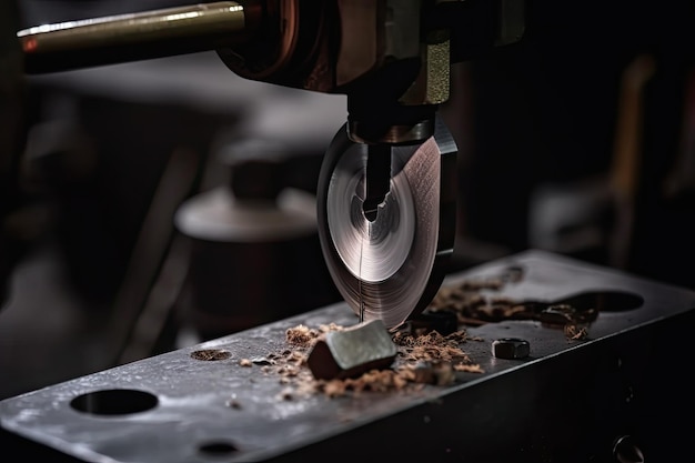
[[[516,42],[520,1],[212,2],[18,33],[29,73],[200,50],[236,74],[348,95],[319,179],[319,233],[345,301],[399,326],[454,243],[456,147],[437,119],[450,67]]]

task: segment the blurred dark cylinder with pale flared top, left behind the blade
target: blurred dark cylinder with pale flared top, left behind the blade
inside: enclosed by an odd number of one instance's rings
[[[285,187],[285,150],[263,140],[222,149],[230,184],[177,212],[191,240],[182,324],[215,339],[339,299],[319,242],[313,194]]]

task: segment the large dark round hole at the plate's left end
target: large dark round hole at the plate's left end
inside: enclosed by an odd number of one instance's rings
[[[157,396],[149,392],[128,389],[95,391],[74,397],[70,406],[93,415],[125,415],[154,409]]]

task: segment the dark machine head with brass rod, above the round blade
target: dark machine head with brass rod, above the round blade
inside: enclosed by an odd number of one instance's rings
[[[18,38],[27,73],[215,50],[243,78],[346,94],[351,139],[393,145],[433,134],[434,112],[449,99],[450,66],[465,59],[469,43],[490,48],[521,38],[521,4],[220,1],[38,26]],[[480,23],[484,32],[471,32]]]

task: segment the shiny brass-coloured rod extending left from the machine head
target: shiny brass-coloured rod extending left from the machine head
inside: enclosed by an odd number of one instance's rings
[[[244,6],[245,4],[245,6]],[[75,19],[21,30],[27,73],[46,73],[214,50],[249,40],[253,2],[220,1]]]

